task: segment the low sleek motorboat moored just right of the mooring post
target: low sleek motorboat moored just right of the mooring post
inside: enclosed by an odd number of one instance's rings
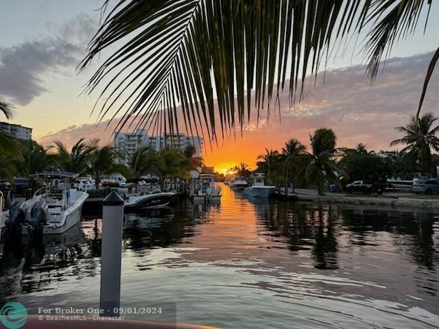
[[[172,192],[162,192],[156,189],[152,192],[140,192],[126,195],[126,210],[146,210],[169,206],[175,196]]]

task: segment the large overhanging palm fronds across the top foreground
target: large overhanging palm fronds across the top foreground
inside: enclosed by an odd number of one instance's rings
[[[332,46],[353,34],[365,36],[366,71],[374,80],[383,56],[414,32],[432,1],[126,0],[106,12],[110,3],[79,66],[114,49],[85,90],[104,87],[99,119],[122,112],[116,130],[136,118],[172,132],[180,117],[189,130],[202,125],[211,141],[242,130],[253,108],[269,108],[285,88],[290,102],[301,98],[307,74],[316,76]],[[438,58],[439,49],[418,112]]]

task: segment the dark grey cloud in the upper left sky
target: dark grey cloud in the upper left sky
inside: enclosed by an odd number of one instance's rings
[[[25,106],[49,91],[47,74],[66,69],[73,74],[97,24],[82,15],[55,28],[50,38],[0,47],[0,97]]]

